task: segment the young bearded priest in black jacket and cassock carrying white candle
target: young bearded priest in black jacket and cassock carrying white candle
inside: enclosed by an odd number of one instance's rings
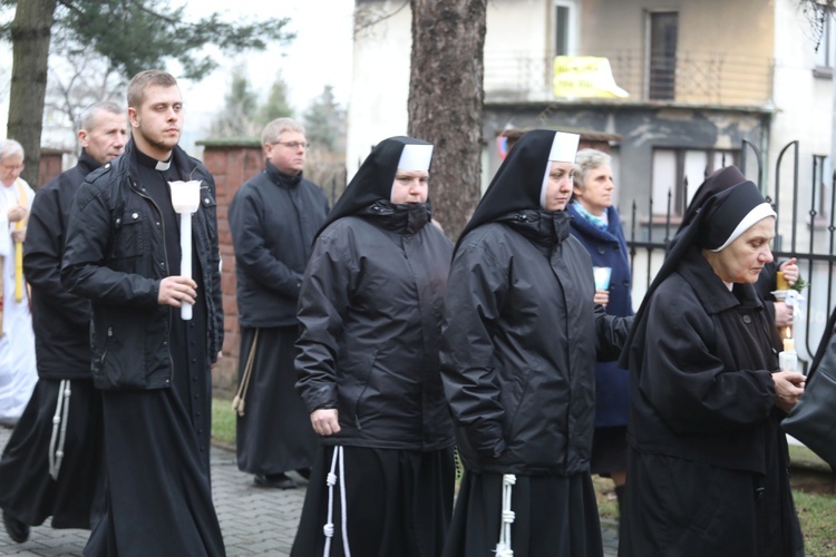
[[[169,74],[128,85],[133,138],[76,194],[61,282],[93,306],[107,485],[85,555],[224,555],[210,483],[211,373],[223,340],[215,185],[177,146],[183,99]],[[193,276],[181,275],[169,183],[200,180]],[[193,304],[183,320],[181,306]]]

